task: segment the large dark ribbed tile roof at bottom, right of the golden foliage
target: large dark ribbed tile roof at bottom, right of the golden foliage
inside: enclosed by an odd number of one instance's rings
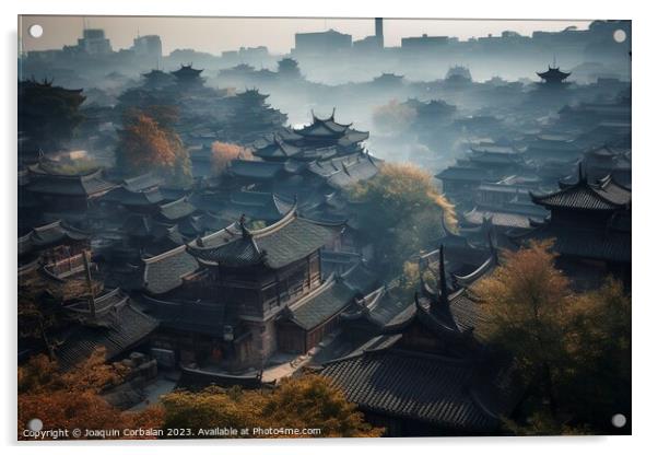
[[[500,425],[472,389],[477,372],[468,361],[381,349],[329,362],[320,374],[364,411],[457,432],[487,433]]]

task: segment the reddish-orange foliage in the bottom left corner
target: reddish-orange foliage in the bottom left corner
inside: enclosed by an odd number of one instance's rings
[[[46,355],[34,357],[19,368],[19,438],[34,418],[44,430],[160,428],[161,409],[120,411],[102,397],[127,373],[126,366],[107,364],[103,349],[68,372]]]

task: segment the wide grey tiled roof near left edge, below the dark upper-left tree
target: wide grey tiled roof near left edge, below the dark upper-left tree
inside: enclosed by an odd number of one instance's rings
[[[103,179],[102,170],[83,175],[62,175],[46,171],[36,164],[30,167],[30,172],[32,175],[27,189],[32,192],[93,197],[115,187]]]

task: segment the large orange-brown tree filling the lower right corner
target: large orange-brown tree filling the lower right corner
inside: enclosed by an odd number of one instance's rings
[[[577,294],[555,267],[551,242],[504,252],[474,292],[483,339],[515,359],[528,384],[517,434],[610,433],[630,416],[631,302],[623,285]],[[626,430],[624,430],[626,431]]]

